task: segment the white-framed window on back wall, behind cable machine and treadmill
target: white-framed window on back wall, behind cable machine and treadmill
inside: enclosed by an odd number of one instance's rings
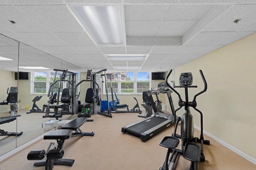
[[[108,93],[111,93],[110,75],[113,93],[135,94],[150,89],[150,74],[148,72],[107,73]],[[105,88],[104,93],[106,93]]]

